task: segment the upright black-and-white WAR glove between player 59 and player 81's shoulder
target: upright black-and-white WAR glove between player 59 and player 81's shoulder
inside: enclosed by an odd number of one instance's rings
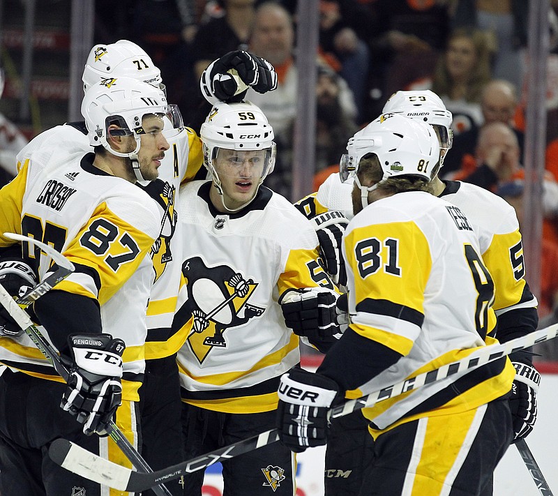
[[[319,252],[333,282],[339,286],[347,285],[347,271],[341,251],[342,237],[349,220],[342,212],[332,210],[310,219],[319,241]]]

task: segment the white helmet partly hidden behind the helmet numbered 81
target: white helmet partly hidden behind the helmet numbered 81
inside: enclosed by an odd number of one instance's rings
[[[435,128],[440,142],[440,167],[442,167],[444,157],[453,144],[451,129],[453,115],[446,109],[442,98],[430,89],[396,91],[384,105],[382,114],[401,114],[403,117],[428,123]]]

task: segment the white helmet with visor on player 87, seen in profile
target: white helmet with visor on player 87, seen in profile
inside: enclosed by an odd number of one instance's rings
[[[167,104],[163,90],[130,77],[101,80],[85,92],[82,100],[89,144],[103,146],[115,156],[130,158],[138,181],[144,180],[137,153],[140,151],[140,135],[145,134],[142,120],[148,115],[160,117],[165,130],[183,126],[178,107]],[[119,126],[118,130],[112,131],[113,135],[117,131],[119,135],[134,137],[136,148],[133,152],[121,153],[111,148],[107,142],[107,130],[111,124]]]

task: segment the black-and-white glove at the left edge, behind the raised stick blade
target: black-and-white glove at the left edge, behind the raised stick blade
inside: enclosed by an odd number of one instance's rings
[[[24,260],[13,258],[0,262],[0,284],[14,299],[17,299],[37,284],[37,278],[33,269]],[[19,336],[23,330],[13,320],[8,310],[3,306],[0,307],[0,336]]]

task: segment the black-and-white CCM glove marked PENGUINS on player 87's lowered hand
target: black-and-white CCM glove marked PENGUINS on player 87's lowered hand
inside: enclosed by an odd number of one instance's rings
[[[110,334],[68,336],[70,377],[61,408],[75,416],[86,435],[105,435],[122,398],[122,354],[126,345]]]

